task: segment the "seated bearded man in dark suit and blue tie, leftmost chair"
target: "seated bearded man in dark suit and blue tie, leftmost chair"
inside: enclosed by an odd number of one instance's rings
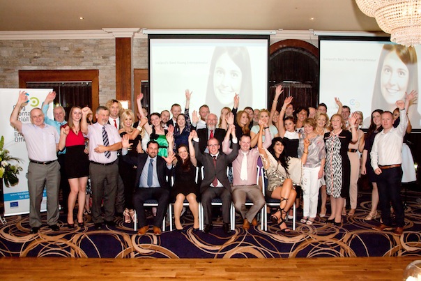
[[[123,160],[130,163],[130,165],[137,166],[135,195],[133,196],[139,227],[137,234],[144,235],[148,231],[149,226],[146,225],[144,202],[148,199],[155,199],[158,201],[158,210],[153,221],[153,233],[160,235],[160,225],[162,225],[169,200],[169,184],[165,177],[171,174],[172,161],[175,157],[174,153],[168,151],[168,157],[159,156],[158,142],[151,140],[148,142],[146,153],[139,153],[137,157],[130,157],[125,155],[130,146],[126,135],[123,136],[122,144]]]

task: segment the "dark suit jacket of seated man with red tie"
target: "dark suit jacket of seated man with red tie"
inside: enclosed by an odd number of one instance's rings
[[[204,179],[201,181],[200,192],[204,192],[204,190],[210,187],[213,179],[215,179],[215,176],[222,183],[222,185],[224,185],[224,188],[227,188],[227,190],[231,192],[231,184],[229,183],[227,176],[227,167],[229,163],[233,162],[237,158],[238,143],[232,144],[233,150],[228,155],[220,152],[216,158],[216,169],[215,165],[213,164],[213,158],[211,154],[199,151],[199,144],[197,142],[193,142],[193,146],[197,160],[199,160],[204,165]]]

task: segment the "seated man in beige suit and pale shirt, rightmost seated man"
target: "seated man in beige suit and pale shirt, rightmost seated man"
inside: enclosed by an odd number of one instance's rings
[[[231,125],[234,126],[234,125]],[[222,144],[224,152],[229,152],[228,139],[224,139]],[[241,214],[243,218],[243,229],[250,229],[250,224],[257,226],[256,214],[263,208],[265,204],[265,198],[261,192],[261,188],[257,185],[257,160],[259,159],[259,149],[255,147],[250,150],[250,143],[252,139],[250,135],[243,135],[240,137],[240,151],[238,156],[232,162],[234,181],[232,190],[232,199],[236,211]],[[270,132],[265,130],[265,142],[263,143],[264,148],[270,146]],[[246,199],[250,199],[253,202],[253,206],[247,211],[245,206]]]

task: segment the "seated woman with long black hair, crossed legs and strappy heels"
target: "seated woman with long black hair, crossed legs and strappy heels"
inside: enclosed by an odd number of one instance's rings
[[[268,177],[268,197],[280,199],[280,208],[271,215],[271,220],[280,226],[282,232],[291,231],[286,227],[285,217],[289,209],[296,200],[297,192],[293,188],[293,183],[300,184],[301,169],[307,161],[309,140],[304,139],[303,158],[286,158],[284,144],[281,137],[275,137],[269,149],[263,148],[263,129],[267,125],[259,122],[259,139],[257,147]],[[264,129],[266,130],[266,129]]]

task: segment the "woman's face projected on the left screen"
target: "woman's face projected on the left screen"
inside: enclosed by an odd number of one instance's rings
[[[243,73],[231,60],[227,53],[222,54],[215,63],[213,73],[213,90],[219,102],[228,105],[233,102],[234,95],[240,94]]]

